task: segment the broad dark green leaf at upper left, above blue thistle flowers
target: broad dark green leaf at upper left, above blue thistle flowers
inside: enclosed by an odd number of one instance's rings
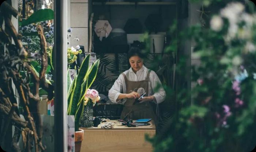
[[[21,26],[26,26],[31,23],[37,23],[37,22],[52,20],[52,19],[54,19],[54,12],[52,9],[49,9],[49,8],[39,9],[38,11],[30,15],[28,19],[23,20],[21,22]]]

